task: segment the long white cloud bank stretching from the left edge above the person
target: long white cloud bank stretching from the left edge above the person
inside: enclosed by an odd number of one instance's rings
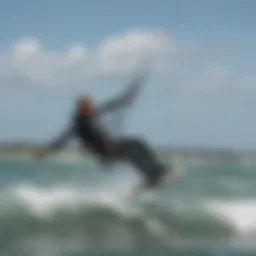
[[[0,53],[0,82],[20,79],[36,86],[80,84],[92,76],[134,71],[142,59],[159,68],[173,51],[172,38],[161,31],[127,32],[107,38],[91,50],[74,44],[67,51],[51,51],[39,39],[25,38]]]

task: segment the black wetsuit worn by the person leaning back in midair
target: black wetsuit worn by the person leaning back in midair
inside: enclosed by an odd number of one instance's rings
[[[119,100],[98,108],[90,117],[75,115],[73,124],[63,135],[50,144],[53,150],[65,145],[69,138],[78,137],[85,148],[101,159],[115,161],[119,158],[132,163],[146,178],[147,186],[157,186],[167,168],[159,161],[150,147],[139,138],[113,139],[97,125],[96,119],[105,112],[122,106]]]

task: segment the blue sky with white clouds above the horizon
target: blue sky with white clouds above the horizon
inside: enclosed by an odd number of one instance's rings
[[[116,96],[151,74],[124,135],[256,149],[253,0],[2,0],[0,141],[50,141],[79,94]]]

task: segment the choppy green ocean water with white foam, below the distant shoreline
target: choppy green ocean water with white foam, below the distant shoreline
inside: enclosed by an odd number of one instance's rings
[[[183,166],[134,197],[129,165],[0,157],[0,255],[256,255],[256,167]]]

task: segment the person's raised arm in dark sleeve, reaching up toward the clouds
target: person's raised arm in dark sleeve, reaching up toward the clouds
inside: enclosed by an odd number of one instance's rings
[[[141,89],[142,84],[144,83],[144,80],[145,74],[137,76],[127,86],[128,88],[119,97],[101,105],[96,110],[96,115],[99,116],[129,106],[133,102],[134,98],[137,96],[139,90]]]

